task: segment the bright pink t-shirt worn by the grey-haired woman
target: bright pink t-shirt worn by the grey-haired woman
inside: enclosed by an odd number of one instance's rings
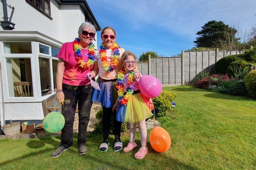
[[[81,49],[84,62],[88,61],[88,49]],[[63,83],[73,86],[84,86],[90,84],[90,79],[86,78],[87,73],[91,72],[93,65],[84,70],[80,67],[75,59],[75,50],[73,42],[64,43],[58,53],[58,58],[62,58],[65,62],[65,70],[63,73]]]

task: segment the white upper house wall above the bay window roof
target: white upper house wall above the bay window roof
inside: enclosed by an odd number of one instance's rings
[[[15,8],[11,20],[15,23],[14,31],[38,31],[63,43],[73,41],[78,36],[80,24],[85,21],[83,10],[79,5],[59,5],[51,0],[52,19],[50,19],[25,0],[7,0],[6,3],[8,17],[11,15],[12,7]],[[0,3],[0,16],[3,16],[2,5]],[[0,31],[3,31],[2,27]],[[97,47],[96,42],[94,44]]]

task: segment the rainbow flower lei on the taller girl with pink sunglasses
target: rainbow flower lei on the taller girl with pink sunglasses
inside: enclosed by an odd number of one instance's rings
[[[111,72],[117,68],[118,65],[118,59],[119,59],[119,50],[118,45],[114,43],[112,46],[112,51],[114,52],[114,55],[112,56],[112,61],[108,61],[107,52],[104,44],[100,45],[100,59],[102,66],[105,71]]]

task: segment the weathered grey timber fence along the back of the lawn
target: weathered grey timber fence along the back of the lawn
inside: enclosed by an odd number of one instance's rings
[[[208,71],[210,74],[214,74],[215,63],[221,58],[243,53],[243,50],[219,49],[182,51],[182,57],[150,58],[150,68],[149,63],[146,62],[138,62],[137,65],[142,75],[149,75],[150,73],[150,75],[158,78],[162,85],[185,85],[193,83],[196,75],[201,71]]]

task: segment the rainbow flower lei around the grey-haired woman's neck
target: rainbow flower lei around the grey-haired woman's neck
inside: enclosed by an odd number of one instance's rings
[[[94,63],[94,57],[95,57],[95,49],[94,49],[94,44],[91,43],[88,48],[88,61],[84,62],[83,60],[83,55],[81,54],[81,44],[80,44],[80,39],[75,38],[74,40],[74,50],[75,50],[75,58],[77,63],[79,64],[80,67],[84,68],[85,70],[90,68],[93,63]]]

